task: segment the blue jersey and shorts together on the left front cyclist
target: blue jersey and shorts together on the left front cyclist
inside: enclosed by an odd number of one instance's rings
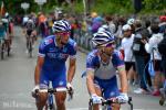
[[[40,80],[43,88],[49,85],[49,80],[53,82],[53,88],[66,86],[65,62],[69,56],[70,58],[75,58],[75,47],[76,43],[71,38],[62,48],[56,45],[54,35],[42,40],[39,56],[44,57]]]

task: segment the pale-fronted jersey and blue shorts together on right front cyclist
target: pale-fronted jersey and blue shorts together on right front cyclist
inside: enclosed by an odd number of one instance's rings
[[[94,72],[94,85],[102,90],[104,99],[120,96],[116,80],[116,69],[125,68],[123,56],[120,52],[114,51],[110,63],[104,64],[101,61],[98,51],[92,51],[86,58],[86,69]]]

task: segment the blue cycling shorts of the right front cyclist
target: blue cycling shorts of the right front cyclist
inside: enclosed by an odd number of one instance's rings
[[[116,76],[112,77],[111,79],[100,79],[94,77],[94,84],[96,87],[101,88],[105,99],[120,96]]]

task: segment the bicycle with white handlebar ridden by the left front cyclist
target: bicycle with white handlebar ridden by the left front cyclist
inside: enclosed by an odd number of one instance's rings
[[[41,89],[35,91],[35,97],[38,98],[39,92],[48,92],[48,100],[46,105],[44,106],[44,110],[56,110],[56,107],[54,106],[54,96],[53,94],[58,91],[68,91],[69,94],[69,101],[73,99],[73,89],[68,89],[68,88],[48,88],[48,89]]]

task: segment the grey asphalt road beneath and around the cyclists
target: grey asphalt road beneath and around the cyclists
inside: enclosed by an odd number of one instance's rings
[[[14,28],[11,56],[0,61],[0,110],[37,110],[30,92],[34,86],[33,73],[39,41],[35,43],[33,57],[29,58],[22,31],[18,26]],[[89,94],[85,79],[81,78],[81,74],[85,70],[86,54],[82,52],[77,54],[77,68],[73,80],[74,99],[66,101],[68,110],[87,110]],[[158,105],[159,97],[134,95],[132,90],[129,96],[133,97],[134,110],[166,110],[166,106]],[[129,110],[127,105],[122,107],[122,110]]]

